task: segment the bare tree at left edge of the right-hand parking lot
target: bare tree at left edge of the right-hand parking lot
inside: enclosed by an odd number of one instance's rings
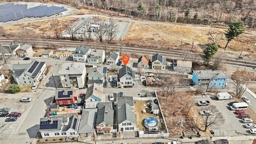
[[[202,115],[201,120],[204,124],[204,132],[206,132],[208,126],[211,125],[221,125],[224,123],[225,119],[222,113],[218,110],[218,108],[214,105],[208,105],[204,107],[200,107],[200,111],[204,110],[209,112],[209,114]],[[210,114],[210,112],[212,114]]]

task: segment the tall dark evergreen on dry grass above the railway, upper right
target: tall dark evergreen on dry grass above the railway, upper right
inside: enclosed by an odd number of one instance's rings
[[[228,43],[236,37],[239,37],[240,34],[244,33],[244,23],[241,20],[233,20],[228,24],[228,31],[225,36],[228,40],[225,48],[227,48]]]

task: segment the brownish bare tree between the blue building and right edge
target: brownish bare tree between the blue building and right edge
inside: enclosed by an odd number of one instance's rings
[[[234,86],[236,88],[236,96],[238,98],[242,97],[246,90],[246,84],[249,82],[252,73],[246,71],[235,71],[233,72],[231,78],[234,80]]]

